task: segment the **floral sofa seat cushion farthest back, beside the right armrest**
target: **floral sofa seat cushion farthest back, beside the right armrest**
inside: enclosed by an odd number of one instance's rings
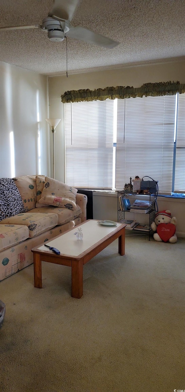
[[[57,214],[58,215],[58,225],[63,225],[64,223],[70,222],[70,220],[73,220],[81,214],[81,209],[79,205],[76,206],[75,210],[69,210],[68,208],[58,208],[54,207],[51,205],[48,205],[46,207],[41,207],[41,208],[34,208],[32,212],[50,212],[52,214]],[[27,212],[29,214],[29,212]]]

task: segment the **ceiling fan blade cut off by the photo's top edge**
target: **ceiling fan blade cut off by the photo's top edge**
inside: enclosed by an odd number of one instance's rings
[[[57,20],[71,21],[78,4],[79,0],[54,0],[54,6],[48,16]]]

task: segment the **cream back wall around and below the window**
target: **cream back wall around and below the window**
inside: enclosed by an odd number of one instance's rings
[[[61,118],[55,134],[55,177],[57,180],[65,181],[65,149],[64,149],[64,105],[61,103],[61,94],[68,90],[97,89],[117,85],[140,87],[143,83],[180,81],[185,83],[185,61],[166,62],[161,64],[140,65],[135,67],[124,67],[106,71],[68,74],[66,76],[55,76],[48,78],[49,110],[50,118]],[[52,144],[51,144],[52,149]],[[177,232],[185,236],[184,216],[185,200],[174,200],[161,198],[159,209],[169,209],[172,216],[178,220]],[[93,217],[94,219],[117,220],[117,198],[116,196],[93,195]]]

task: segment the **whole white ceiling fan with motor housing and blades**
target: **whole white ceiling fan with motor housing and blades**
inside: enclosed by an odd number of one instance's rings
[[[48,38],[55,42],[63,41],[65,37],[71,37],[105,48],[117,46],[119,42],[113,41],[101,34],[94,33],[84,27],[73,27],[71,25],[70,21],[73,18],[78,4],[79,0],[54,0],[52,10],[49,11],[47,18],[42,20],[41,25],[0,27],[0,30],[38,28],[42,31],[47,31]]]

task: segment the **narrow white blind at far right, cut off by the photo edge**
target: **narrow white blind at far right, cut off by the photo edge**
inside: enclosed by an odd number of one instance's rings
[[[185,192],[185,94],[178,94],[174,192]]]

